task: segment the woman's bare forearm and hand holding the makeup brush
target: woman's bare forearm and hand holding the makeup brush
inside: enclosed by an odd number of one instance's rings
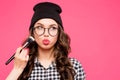
[[[27,65],[27,62],[29,60],[29,55],[28,55],[29,50],[23,49],[21,51],[21,49],[22,47],[19,47],[16,50],[15,59],[14,59],[14,68],[7,76],[6,80],[17,80]]]

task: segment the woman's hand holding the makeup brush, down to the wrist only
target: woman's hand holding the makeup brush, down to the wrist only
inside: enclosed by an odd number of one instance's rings
[[[27,65],[27,62],[29,60],[29,50],[28,49],[23,49],[21,51],[22,47],[19,47],[16,50],[16,54],[15,54],[15,60],[14,60],[14,68],[15,69],[20,69],[20,70],[24,70],[24,68]]]

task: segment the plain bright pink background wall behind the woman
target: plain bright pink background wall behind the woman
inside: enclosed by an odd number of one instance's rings
[[[1,0],[0,80],[12,69],[13,61],[4,63],[27,36],[32,7],[41,1],[61,5],[70,56],[82,63],[87,80],[120,80],[119,0]]]

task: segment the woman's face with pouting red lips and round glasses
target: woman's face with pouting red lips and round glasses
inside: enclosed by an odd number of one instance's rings
[[[39,48],[52,49],[58,38],[58,24],[50,18],[40,19],[34,24],[33,32]]]

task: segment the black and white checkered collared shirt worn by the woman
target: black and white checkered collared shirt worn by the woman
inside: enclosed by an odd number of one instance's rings
[[[70,58],[71,63],[73,64],[76,75],[74,80],[85,80],[85,73],[82,68],[82,65],[74,58]],[[49,68],[44,68],[38,59],[34,61],[34,68],[28,80],[60,80],[60,75],[57,72],[56,64],[53,62]]]

